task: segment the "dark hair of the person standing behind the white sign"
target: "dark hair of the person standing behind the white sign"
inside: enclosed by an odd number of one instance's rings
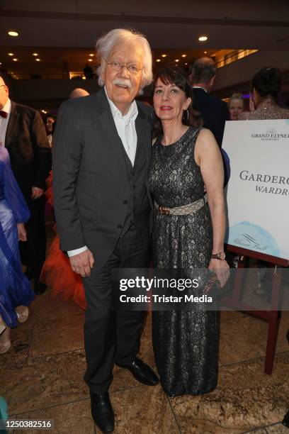
[[[252,86],[260,96],[273,96],[276,98],[280,91],[281,77],[277,68],[263,68],[256,73]]]

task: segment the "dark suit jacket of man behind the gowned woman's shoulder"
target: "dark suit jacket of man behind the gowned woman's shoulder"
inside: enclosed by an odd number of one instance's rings
[[[221,148],[225,122],[229,120],[227,104],[204,89],[193,88],[193,107],[200,112],[204,127],[212,131]]]

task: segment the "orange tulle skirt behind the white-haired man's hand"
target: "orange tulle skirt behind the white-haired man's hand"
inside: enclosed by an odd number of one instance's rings
[[[81,277],[72,271],[68,257],[60,250],[58,235],[52,241],[40,280],[52,288],[53,296],[60,296],[64,300],[72,299],[81,308],[86,309]]]

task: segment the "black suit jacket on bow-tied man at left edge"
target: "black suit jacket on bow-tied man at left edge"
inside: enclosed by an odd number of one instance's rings
[[[38,111],[11,101],[11,113],[5,136],[16,181],[30,201],[31,188],[45,189],[51,169],[51,150]]]

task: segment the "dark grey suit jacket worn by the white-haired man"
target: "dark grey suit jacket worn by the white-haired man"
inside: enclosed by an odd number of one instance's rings
[[[137,147],[143,147],[148,171],[149,108],[140,102],[137,108]],[[67,251],[87,245],[100,265],[117,243],[132,194],[123,143],[104,89],[65,101],[53,140],[53,192],[60,248]]]

